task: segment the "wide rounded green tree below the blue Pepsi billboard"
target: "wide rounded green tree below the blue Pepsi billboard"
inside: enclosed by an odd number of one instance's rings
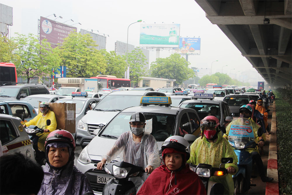
[[[151,63],[151,75],[152,77],[175,79],[175,84],[182,84],[183,81],[195,76],[189,65],[190,63],[180,54],[171,54],[167,58],[157,58],[155,62]]]

